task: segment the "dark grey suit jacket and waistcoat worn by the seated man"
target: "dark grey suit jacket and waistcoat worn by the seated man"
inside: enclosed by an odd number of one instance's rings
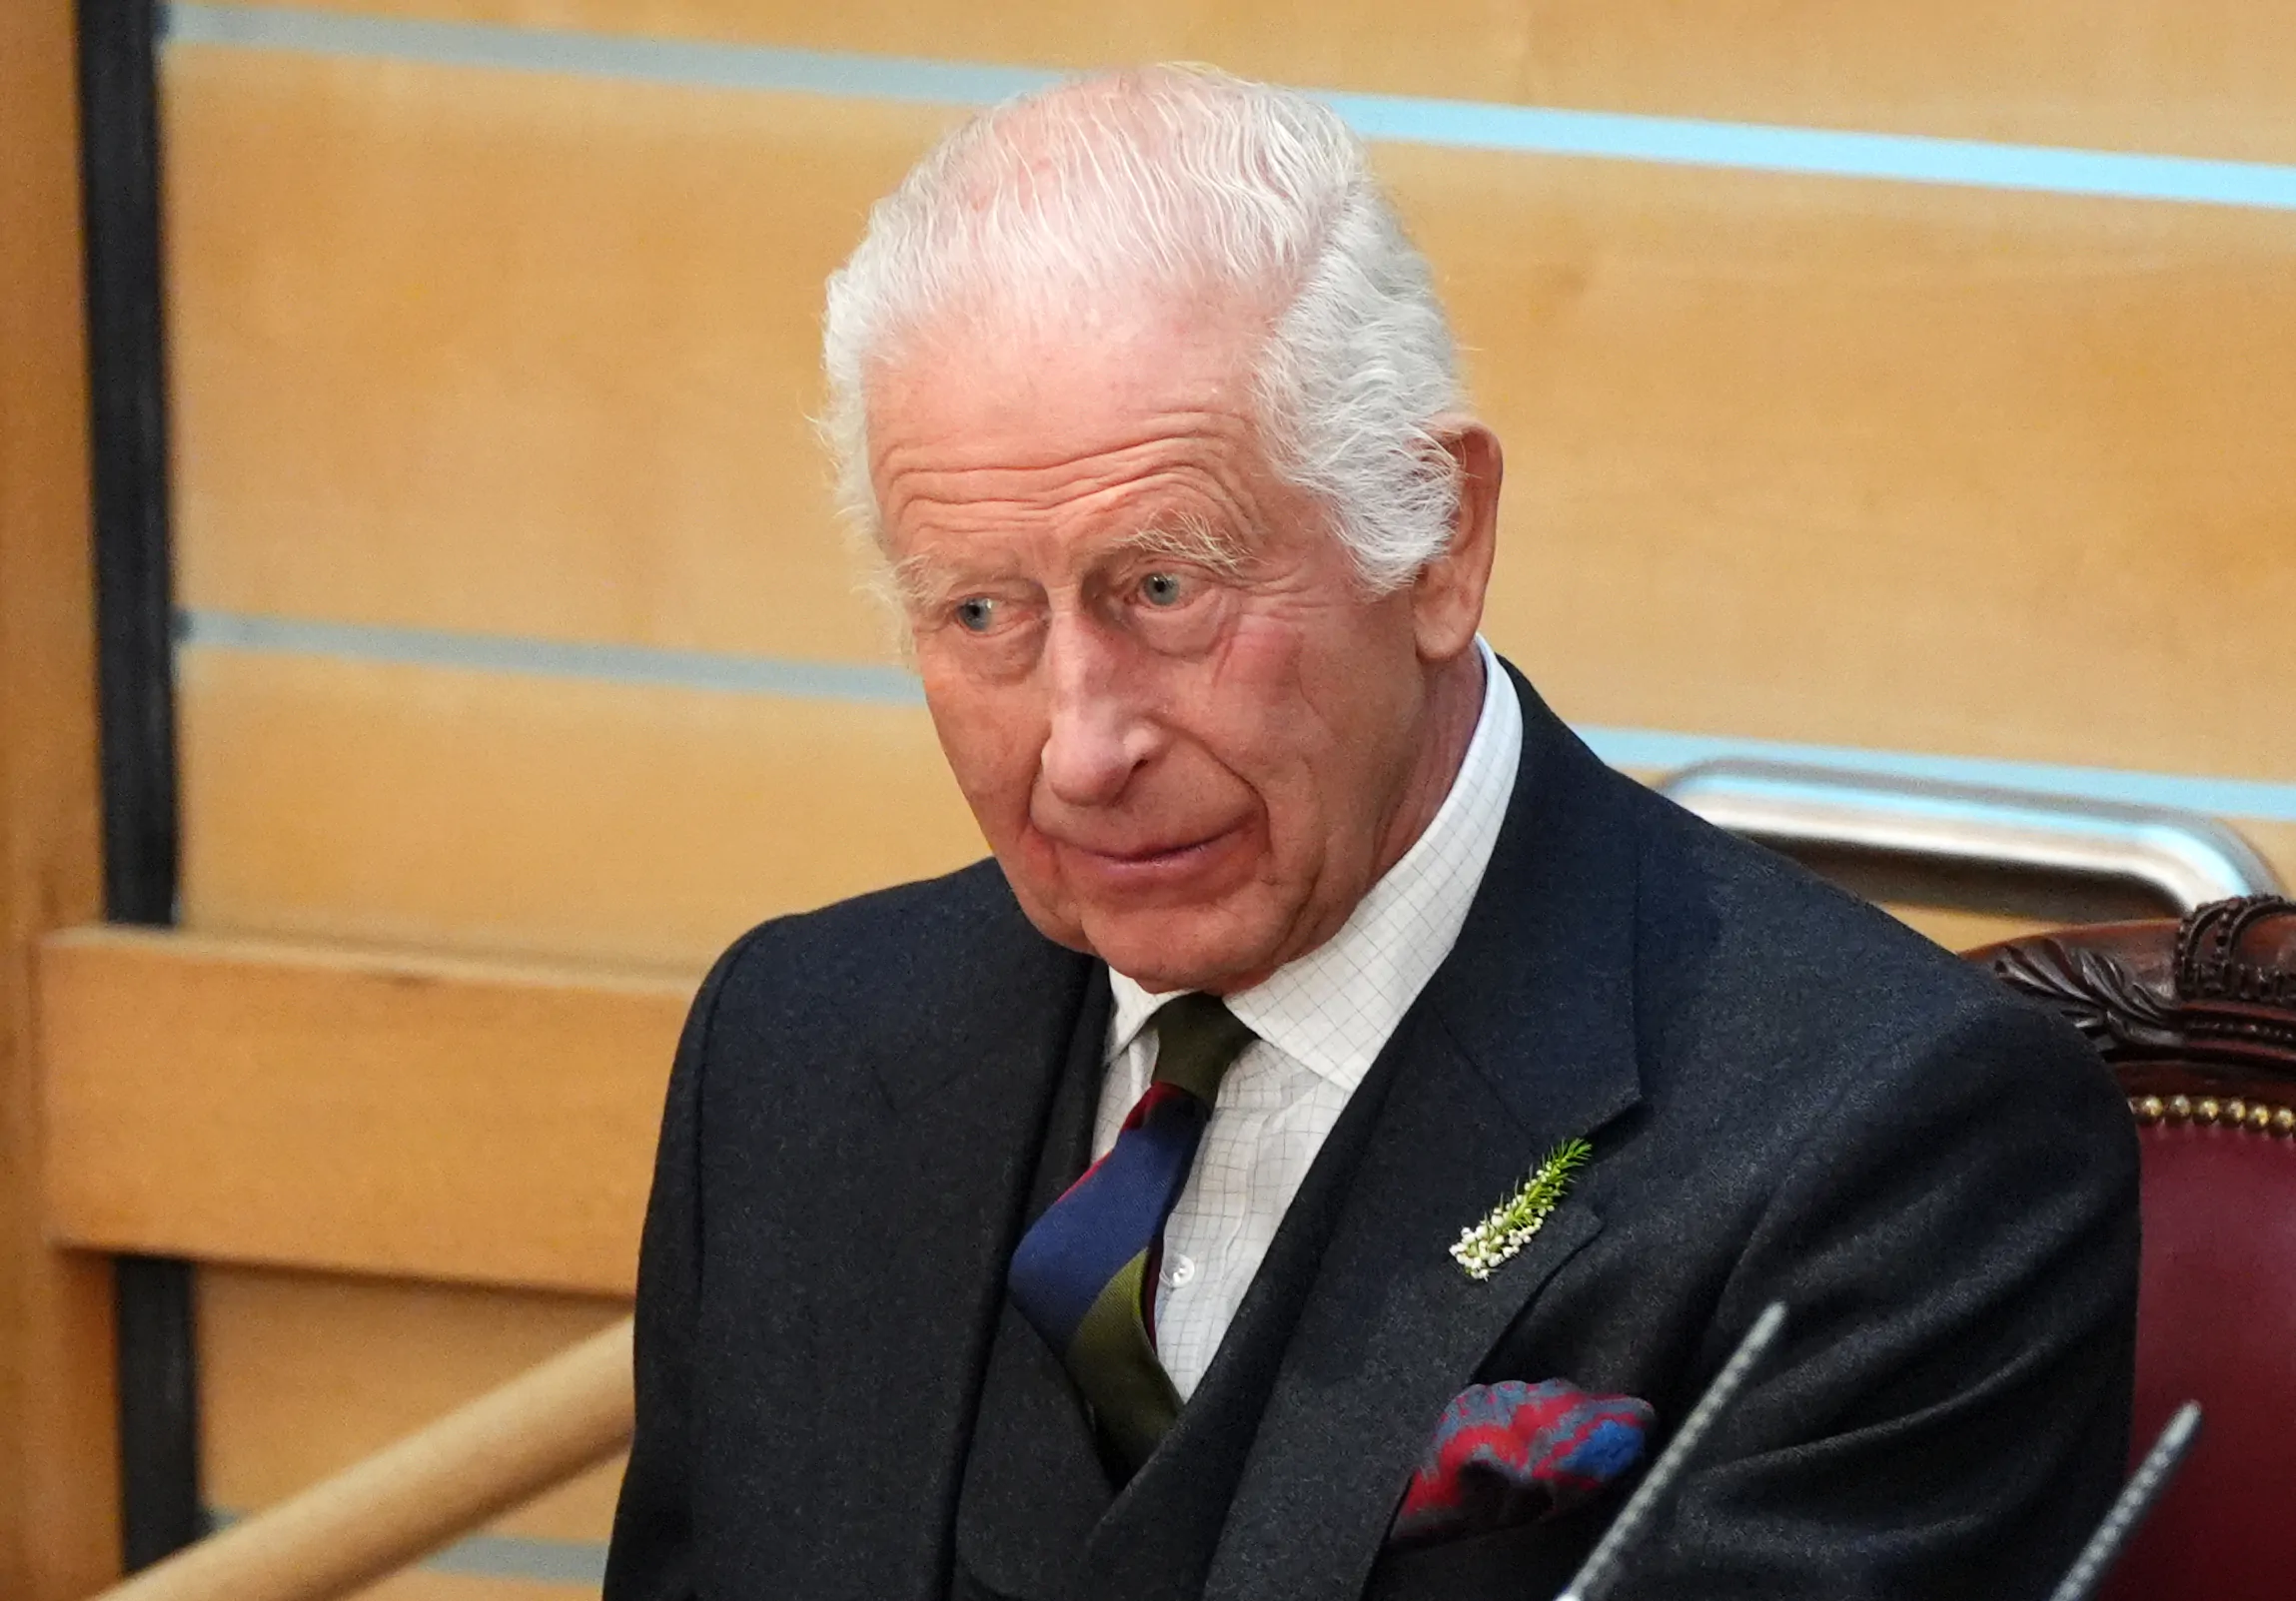
[[[2110,1080],[1515,688],[1467,927],[1120,1493],[1003,1296],[1084,1163],[1104,968],[987,862],[719,961],[645,1223],[608,1601],[1550,1596],[1614,1505],[1384,1551],[1437,1413],[1559,1376],[1665,1431],[1768,1301],[1791,1330],[1621,1594],[2046,1594],[2126,1459]],[[1566,1204],[1467,1280],[1458,1229],[1570,1135],[1596,1161]]]

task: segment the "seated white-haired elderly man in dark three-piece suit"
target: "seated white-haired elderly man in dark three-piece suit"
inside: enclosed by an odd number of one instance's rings
[[[1548,1596],[1770,1301],[1626,1594],[2043,1594],[2126,1452],[2126,1115],[1483,647],[1499,443],[1345,128],[999,108],[827,365],[994,860],[703,986],[608,1599]]]

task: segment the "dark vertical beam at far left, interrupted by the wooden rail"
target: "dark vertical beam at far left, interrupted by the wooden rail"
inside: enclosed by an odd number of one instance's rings
[[[80,0],[80,172],[103,718],[103,901],[174,922],[177,778],[161,296],[158,14]],[[129,1569],[204,1532],[191,1266],[117,1266],[119,1521]]]

